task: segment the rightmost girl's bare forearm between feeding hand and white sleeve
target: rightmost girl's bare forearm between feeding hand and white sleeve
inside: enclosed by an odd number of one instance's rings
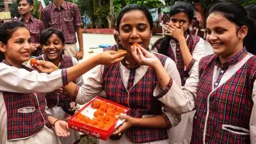
[[[156,72],[157,79],[159,80],[161,88],[164,88],[169,83],[170,76],[168,75],[160,61],[157,61],[157,63],[154,65],[154,70]]]

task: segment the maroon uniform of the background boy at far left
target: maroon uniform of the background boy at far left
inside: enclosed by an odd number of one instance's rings
[[[32,15],[28,22],[26,22],[23,17],[20,17],[18,20],[28,28],[31,36],[31,43],[40,44],[40,33],[42,33],[42,31],[45,29],[44,23],[41,20],[36,19]],[[42,53],[42,48],[36,49],[34,52],[31,53],[31,56],[40,56],[40,54]]]

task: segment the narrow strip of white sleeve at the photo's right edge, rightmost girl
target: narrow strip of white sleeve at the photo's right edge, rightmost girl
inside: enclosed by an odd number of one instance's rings
[[[250,118],[250,140],[251,143],[256,143],[256,81],[253,83],[253,90],[252,90],[252,100],[253,100],[253,108],[252,114]]]

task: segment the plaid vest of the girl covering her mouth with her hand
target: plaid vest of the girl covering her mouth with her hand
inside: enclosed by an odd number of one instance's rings
[[[188,48],[189,48],[189,51],[191,54],[193,53],[195,46],[199,42],[199,40],[200,40],[199,36],[189,35],[188,40],[187,40],[187,45],[188,45]],[[156,45],[156,48],[159,51],[159,49],[161,47],[161,41],[159,41],[158,44],[154,44],[154,45]],[[184,70],[185,65],[184,65],[184,61],[183,61],[182,54],[180,51],[179,42],[176,43],[176,56],[174,55],[174,52],[173,52],[170,44],[169,44],[166,56],[168,56],[169,58],[171,58],[173,61],[176,62],[177,69],[180,74],[181,83],[182,83],[182,86],[184,86],[186,79],[188,79],[188,77],[189,77],[189,74],[188,74],[189,71]],[[177,61],[175,60],[175,57],[176,57]]]

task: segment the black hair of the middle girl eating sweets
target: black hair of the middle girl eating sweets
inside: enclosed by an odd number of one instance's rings
[[[147,8],[145,8],[144,6],[141,6],[140,4],[129,4],[122,9],[122,11],[119,13],[119,15],[116,19],[116,26],[117,26],[118,32],[120,30],[119,26],[120,26],[121,19],[124,17],[125,13],[131,12],[132,10],[139,10],[139,11],[143,12],[149,22],[150,30],[152,30],[153,19],[152,19],[150,12],[148,12]]]

